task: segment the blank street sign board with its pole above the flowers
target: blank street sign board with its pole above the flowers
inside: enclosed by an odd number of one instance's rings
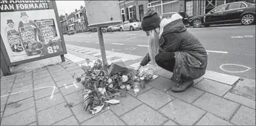
[[[105,45],[101,28],[121,24],[119,1],[85,1],[88,26],[97,27],[103,64],[107,64]]]

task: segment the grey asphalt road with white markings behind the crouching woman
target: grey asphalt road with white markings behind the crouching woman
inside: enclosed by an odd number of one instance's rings
[[[209,53],[207,70],[255,79],[255,26],[188,28]],[[145,56],[147,36],[143,31],[103,33],[105,49]],[[99,49],[96,33],[64,35],[65,43]]]

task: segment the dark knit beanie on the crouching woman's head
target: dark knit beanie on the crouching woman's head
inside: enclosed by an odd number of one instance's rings
[[[157,12],[149,9],[145,16],[143,16],[141,27],[143,31],[155,30],[155,28],[160,28],[161,18]]]

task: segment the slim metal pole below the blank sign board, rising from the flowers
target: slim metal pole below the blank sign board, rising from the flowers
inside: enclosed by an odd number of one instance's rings
[[[100,27],[97,27],[98,37],[99,37],[99,47],[101,48],[101,58],[103,61],[103,64],[107,64],[107,57],[105,53],[105,45],[104,45],[104,39],[103,39],[103,33]]]

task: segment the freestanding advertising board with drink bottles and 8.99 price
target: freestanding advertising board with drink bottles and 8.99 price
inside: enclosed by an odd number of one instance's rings
[[[10,66],[60,56],[66,45],[55,1],[1,0],[1,70]]]

